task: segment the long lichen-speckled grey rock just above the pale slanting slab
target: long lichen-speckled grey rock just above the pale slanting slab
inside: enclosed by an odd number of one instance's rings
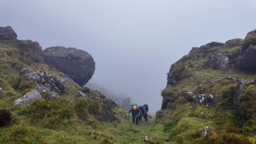
[[[23,68],[20,71],[21,83],[25,81],[34,81],[36,85],[42,84],[44,87],[50,89],[50,91],[54,91],[60,93],[67,87],[67,82],[59,79],[48,72],[32,70],[28,68]]]

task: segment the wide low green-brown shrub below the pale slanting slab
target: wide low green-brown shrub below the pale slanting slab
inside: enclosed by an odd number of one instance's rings
[[[65,99],[37,99],[28,105],[24,112],[31,118],[32,123],[38,122],[46,128],[58,128],[71,124],[74,116],[73,104]]]

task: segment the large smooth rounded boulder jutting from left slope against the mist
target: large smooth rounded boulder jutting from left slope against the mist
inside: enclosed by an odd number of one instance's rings
[[[84,86],[95,71],[92,56],[75,48],[56,46],[45,49],[44,61],[71,77],[79,86]]]

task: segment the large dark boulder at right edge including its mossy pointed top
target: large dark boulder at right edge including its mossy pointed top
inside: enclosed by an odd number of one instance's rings
[[[256,30],[247,34],[237,65],[239,69],[256,70]]]

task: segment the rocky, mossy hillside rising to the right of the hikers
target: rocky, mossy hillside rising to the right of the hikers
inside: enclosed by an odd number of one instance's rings
[[[256,31],[193,47],[171,65],[156,122],[177,143],[255,143]],[[204,126],[211,135],[200,137]]]

